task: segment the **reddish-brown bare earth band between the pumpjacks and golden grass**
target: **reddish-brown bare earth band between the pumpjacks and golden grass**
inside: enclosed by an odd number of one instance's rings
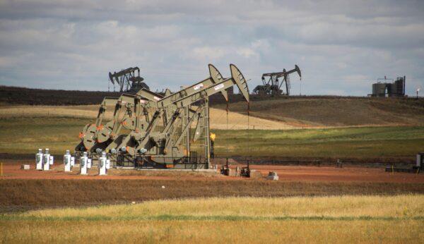
[[[30,164],[30,170],[20,169]],[[317,166],[251,166],[280,181],[214,173],[111,170],[108,176],[65,173],[63,166],[36,171],[31,161],[8,161],[0,177],[0,212],[45,207],[78,207],[186,197],[284,197],[314,195],[396,195],[424,193],[424,174],[386,173],[384,169]],[[235,166],[231,166],[235,167]],[[165,188],[162,188],[165,186]]]

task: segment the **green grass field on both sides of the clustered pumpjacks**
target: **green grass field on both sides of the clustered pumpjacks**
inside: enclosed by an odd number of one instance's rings
[[[0,118],[0,152],[54,154],[73,150],[90,120],[67,117]],[[424,151],[424,127],[324,128],[304,130],[213,130],[218,156],[410,159]],[[227,152],[228,147],[228,152]]]

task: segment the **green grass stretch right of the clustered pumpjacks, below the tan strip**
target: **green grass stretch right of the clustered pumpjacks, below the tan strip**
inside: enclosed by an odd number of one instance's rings
[[[223,156],[412,158],[424,151],[424,127],[214,132],[216,154]]]

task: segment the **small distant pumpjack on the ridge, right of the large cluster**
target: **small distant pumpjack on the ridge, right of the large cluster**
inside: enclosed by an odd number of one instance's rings
[[[258,85],[254,88],[253,93],[254,94],[271,94],[271,95],[290,95],[290,73],[297,72],[300,80],[302,80],[302,73],[300,73],[299,66],[295,65],[295,68],[293,68],[290,71],[285,71],[285,68],[282,72],[275,72],[275,73],[264,73],[262,74],[262,85]],[[285,86],[283,87],[283,84]],[[281,90],[281,87],[283,87],[284,90]]]

